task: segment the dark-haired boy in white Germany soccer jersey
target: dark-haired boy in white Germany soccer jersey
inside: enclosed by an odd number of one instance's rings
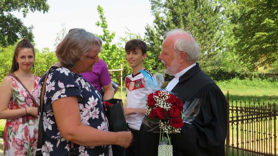
[[[125,156],[135,156],[138,154],[138,134],[142,120],[146,112],[146,91],[142,84],[143,74],[139,70],[145,70],[151,77],[153,75],[143,67],[143,60],[146,58],[147,45],[144,41],[134,39],[125,44],[126,59],[132,73],[125,78],[126,103],[125,118],[128,129],[132,132],[134,141],[126,149]]]

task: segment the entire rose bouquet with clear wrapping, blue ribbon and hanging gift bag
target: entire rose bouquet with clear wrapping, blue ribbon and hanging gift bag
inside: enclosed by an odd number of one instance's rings
[[[179,133],[184,122],[191,124],[199,113],[201,100],[195,99],[191,105],[187,101],[183,104],[173,93],[160,89],[164,83],[164,72],[158,69],[153,77],[144,70],[140,72],[144,75],[142,83],[148,90],[147,111],[142,124],[148,132],[160,132],[158,156],[172,156],[173,147],[168,133]],[[163,137],[163,132],[167,138]]]

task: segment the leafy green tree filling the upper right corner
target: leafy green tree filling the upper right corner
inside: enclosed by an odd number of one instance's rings
[[[270,67],[278,58],[277,0],[241,0],[233,2],[235,49],[250,71]],[[240,10],[240,11],[239,11]]]

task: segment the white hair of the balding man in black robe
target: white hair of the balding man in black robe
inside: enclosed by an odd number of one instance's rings
[[[190,32],[186,32],[182,29],[174,29],[171,30],[169,32],[166,33],[167,36],[172,35],[172,34],[188,34],[189,36],[191,36],[192,40],[188,39],[188,38],[179,38],[175,41],[174,43],[174,49],[176,52],[176,56],[184,51],[186,53],[186,61],[187,62],[192,62],[195,63],[198,61],[199,59],[199,55],[200,55],[200,47],[198,45],[198,43],[195,41],[195,39],[193,38],[193,36],[191,35]],[[183,35],[182,35],[183,36]]]

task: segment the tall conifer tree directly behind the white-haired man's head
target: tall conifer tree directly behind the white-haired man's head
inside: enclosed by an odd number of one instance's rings
[[[203,65],[223,47],[222,1],[212,0],[151,0],[154,25],[145,27],[148,48],[157,58],[164,33],[181,28],[189,30],[201,48],[199,62]],[[224,3],[224,2],[223,2]],[[158,65],[157,65],[158,66]]]

